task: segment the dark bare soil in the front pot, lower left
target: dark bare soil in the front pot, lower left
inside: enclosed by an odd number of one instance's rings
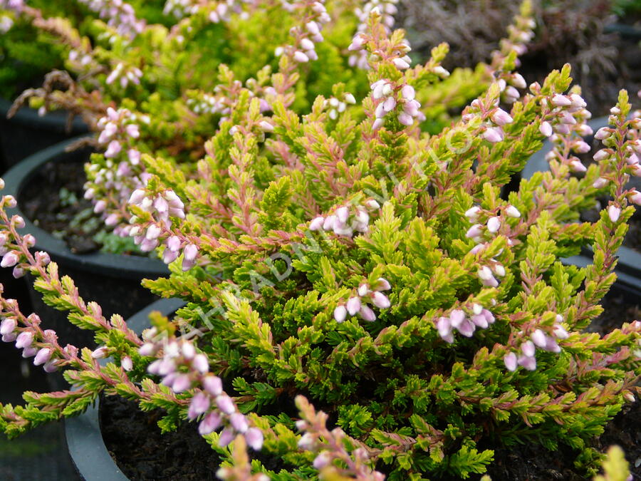
[[[130,480],[217,480],[217,452],[198,434],[196,423],[184,423],[160,434],[162,410],[145,413],[135,401],[118,396],[100,400],[103,440],[118,467]]]

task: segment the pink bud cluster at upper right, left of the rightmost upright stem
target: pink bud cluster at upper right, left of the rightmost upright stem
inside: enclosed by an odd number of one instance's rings
[[[533,93],[540,90],[538,83],[533,83],[530,89]],[[573,154],[584,154],[590,151],[590,145],[583,137],[593,133],[587,121],[592,114],[585,109],[585,100],[578,93],[562,95],[557,93],[551,98],[541,100],[547,108],[545,120],[541,122],[541,135],[549,137],[553,149],[546,154],[546,160],[557,160],[568,165],[573,172],[585,172],[583,162]]]

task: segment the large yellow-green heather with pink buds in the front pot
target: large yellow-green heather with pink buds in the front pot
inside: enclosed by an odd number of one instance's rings
[[[615,281],[630,202],[641,202],[624,187],[641,150],[627,93],[578,179],[571,152],[584,149],[589,113],[568,90],[569,66],[528,87],[509,48],[489,89],[429,135],[417,99],[442,82],[445,48],[406,68],[402,32],[388,34],[376,9],[352,45],[368,52],[362,101],[337,83],[300,115],[303,93],[266,111],[239,88],[197,176],[141,155],[148,178],[130,197],[130,234],[172,270],[145,285],[187,305],[153,315],[140,337],[80,299],[0,209],[0,265],[31,272],[46,303],[100,344],[63,346],[0,297],[3,340],[74,388],[2,406],[6,434],[105,393],[162,408],[164,431],[193,422],[224,458],[224,480],[469,477],[492,462],[482,446],[521,442],[568,445],[595,472],[590,440],[635,400],[641,374],[639,321],[584,331]],[[501,197],[549,135],[551,170]],[[599,221],[578,222],[606,191]],[[593,265],[560,262],[587,245]]]

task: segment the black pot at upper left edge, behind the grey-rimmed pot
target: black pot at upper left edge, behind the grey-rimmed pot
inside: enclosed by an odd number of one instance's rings
[[[67,125],[64,112],[51,112],[43,117],[37,110],[21,108],[14,117],[6,118],[11,102],[0,98],[0,172],[5,172],[24,158],[68,138],[88,132],[79,118]]]

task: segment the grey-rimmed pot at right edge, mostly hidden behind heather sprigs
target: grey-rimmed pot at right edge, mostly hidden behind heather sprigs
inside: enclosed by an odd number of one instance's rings
[[[596,132],[598,129],[608,125],[608,117],[595,118],[590,121],[588,125]],[[585,139],[588,144],[590,144],[592,140],[593,138]],[[549,169],[550,166],[545,157],[546,154],[552,150],[552,147],[552,143],[546,140],[543,148],[528,160],[526,167],[523,169],[523,172],[521,172],[523,179],[529,179],[534,172],[543,172]],[[641,190],[641,179],[635,177],[631,179],[630,182],[635,185],[637,189]],[[641,253],[629,247],[622,246],[619,248],[617,256],[619,257],[619,262],[615,269],[615,273],[617,274],[617,288],[627,291],[630,294],[641,296]],[[590,249],[585,249],[580,256],[563,259],[563,262],[574,264],[578,267],[585,267],[592,263],[592,252]]]

